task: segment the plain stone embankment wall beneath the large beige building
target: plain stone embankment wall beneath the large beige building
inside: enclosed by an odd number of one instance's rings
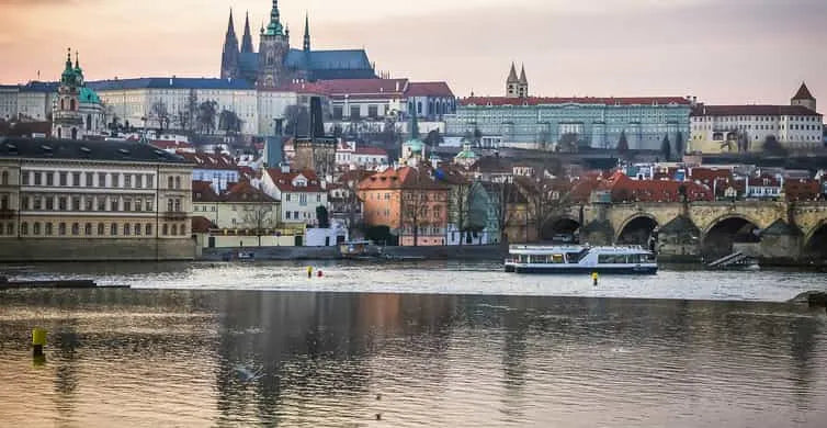
[[[4,239],[0,261],[192,260],[192,239]]]

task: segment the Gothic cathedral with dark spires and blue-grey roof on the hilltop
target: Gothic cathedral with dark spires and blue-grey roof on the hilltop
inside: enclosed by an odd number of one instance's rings
[[[261,89],[275,89],[295,80],[373,79],[376,74],[364,49],[313,50],[307,16],[302,48],[292,48],[290,29],[281,22],[279,0],[273,0],[270,22],[260,31],[259,52],[253,50],[249,15],[239,47],[230,11],[222,52],[222,78],[243,79]]]

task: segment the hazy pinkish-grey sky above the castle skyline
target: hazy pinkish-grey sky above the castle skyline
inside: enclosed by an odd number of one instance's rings
[[[55,80],[66,48],[88,79],[215,77],[231,7],[253,43],[268,0],[0,0],[0,82]],[[511,61],[540,95],[686,95],[827,105],[827,0],[282,0],[301,46],[364,46],[377,69],[501,94]],[[824,109],[822,109],[824,110]]]

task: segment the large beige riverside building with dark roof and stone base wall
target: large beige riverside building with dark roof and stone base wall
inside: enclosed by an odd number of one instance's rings
[[[0,260],[192,259],[191,181],[147,145],[0,138]]]

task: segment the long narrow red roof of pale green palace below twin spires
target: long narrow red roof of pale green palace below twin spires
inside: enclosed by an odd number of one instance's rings
[[[600,104],[600,105],[652,105],[679,104],[689,105],[690,101],[682,97],[638,97],[638,98],[507,98],[507,97],[471,97],[460,100],[461,105],[543,105],[543,104]]]

